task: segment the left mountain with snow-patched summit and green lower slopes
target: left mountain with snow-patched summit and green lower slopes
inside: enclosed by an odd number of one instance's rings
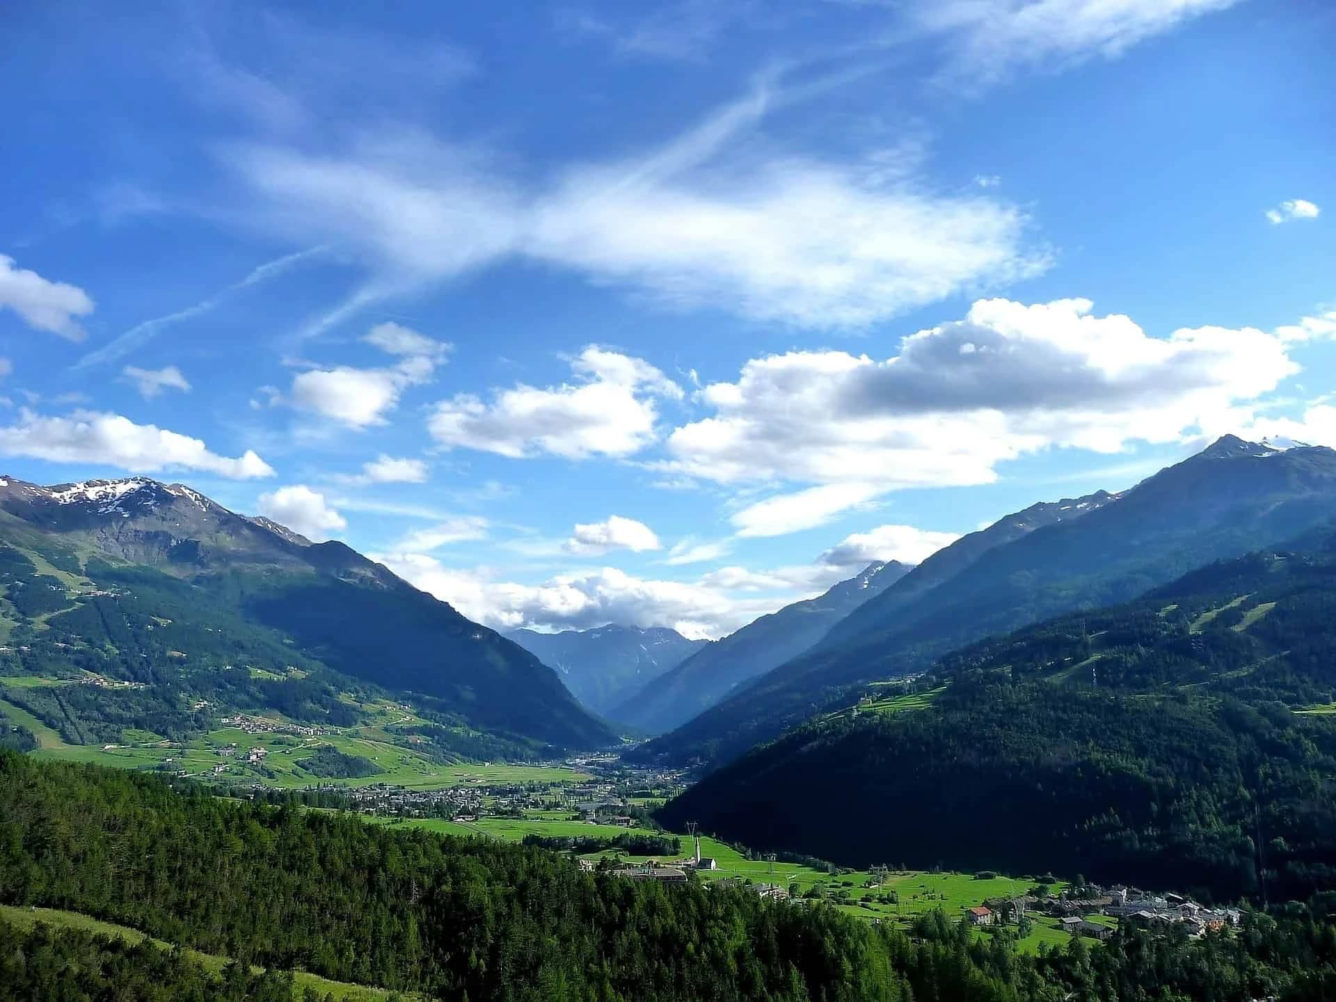
[[[0,675],[107,683],[29,693],[76,741],[116,740],[147,719],[194,732],[226,709],[346,721],[351,684],[411,693],[442,740],[615,740],[498,633],[342,542],[311,542],[180,484],[0,478]]]

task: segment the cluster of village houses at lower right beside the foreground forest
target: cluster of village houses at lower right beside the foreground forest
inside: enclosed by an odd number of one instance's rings
[[[994,898],[983,904],[966,910],[966,919],[974,926],[991,926],[1005,921],[1017,921],[1026,911],[1035,911],[1058,919],[1059,929],[1073,935],[1090,939],[1108,939],[1114,926],[1106,922],[1092,922],[1092,916],[1109,916],[1118,922],[1134,922],[1150,929],[1181,925],[1188,934],[1200,937],[1208,930],[1237,926],[1238,908],[1208,908],[1181,894],[1154,895],[1133,887],[1116,886],[1083,888],[1085,896],[1033,895],[1018,898]]]

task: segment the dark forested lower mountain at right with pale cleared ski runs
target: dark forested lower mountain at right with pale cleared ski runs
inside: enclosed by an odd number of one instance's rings
[[[874,684],[661,819],[851,866],[1336,888],[1336,532],[1296,545]]]

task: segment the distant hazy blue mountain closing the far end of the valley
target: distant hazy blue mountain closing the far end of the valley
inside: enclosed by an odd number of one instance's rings
[[[577,700],[605,716],[632,692],[709,643],[687,640],[665,627],[608,625],[560,633],[516,629],[506,636],[545,665],[556,668]]]

